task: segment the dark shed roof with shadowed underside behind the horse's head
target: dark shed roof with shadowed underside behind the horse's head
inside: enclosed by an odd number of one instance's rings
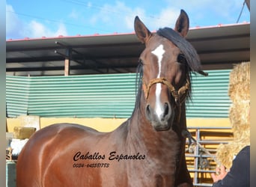
[[[250,59],[250,24],[190,29],[204,69],[230,69]],[[56,44],[56,42],[58,44]],[[7,74],[64,75],[64,56],[72,48],[70,73],[135,73],[144,46],[134,33],[7,40]],[[60,55],[62,54],[62,55]]]

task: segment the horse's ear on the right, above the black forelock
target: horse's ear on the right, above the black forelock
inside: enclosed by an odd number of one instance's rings
[[[186,37],[189,31],[189,16],[184,10],[180,10],[180,16],[175,24],[175,31],[177,31],[182,37]]]

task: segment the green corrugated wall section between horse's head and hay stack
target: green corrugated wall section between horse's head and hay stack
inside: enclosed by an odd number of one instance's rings
[[[187,104],[187,117],[228,117],[231,70],[208,70],[209,76],[192,77],[192,102]]]

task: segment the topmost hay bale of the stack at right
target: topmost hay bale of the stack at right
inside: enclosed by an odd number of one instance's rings
[[[228,95],[233,102],[250,99],[250,62],[238,64],[231,71]]]

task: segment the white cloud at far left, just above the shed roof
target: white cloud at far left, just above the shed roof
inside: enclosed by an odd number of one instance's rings
[[[55,27],[52,29],[42,22],[37,22],[35,20],[22,22],[13,10],[13,7],[10,4],[6,5],[7,38],[58,37],[59,35],[67,36],[67,28],[63,23],[59,23],[57,28]]]

